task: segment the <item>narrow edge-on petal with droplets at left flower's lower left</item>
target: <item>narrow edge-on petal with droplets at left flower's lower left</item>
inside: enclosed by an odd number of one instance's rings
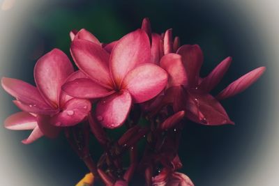
[[[27,111],[33,114],[52,115],[56,114],[59,111],[59,109],[41,107],[42,105],[40,104],[25,104],[24,102],[17,100],[13,100],[13,103],[17,105],[18,108],[22,109],[22,111]]]

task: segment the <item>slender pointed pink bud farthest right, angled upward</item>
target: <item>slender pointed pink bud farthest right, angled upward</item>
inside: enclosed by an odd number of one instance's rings
[[[251,72],[248,72],[246,75],[243,75],[239,79],[236,79],[236,81],[229,84],[229,86],[227,86],[227,88],[220,92],[216,98],[218,100],[223,100],[225,98],[229,98],[238,93],[241,93],[254,82],[256,82],[257,79],[262,76],[265,70],[265,67],[259,67],[255,70],[252,70]]]

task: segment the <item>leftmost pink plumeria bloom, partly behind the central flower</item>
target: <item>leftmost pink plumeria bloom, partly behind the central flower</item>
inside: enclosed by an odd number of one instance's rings
[[[59,49],[41,57],[34,68],[36,86],[19,79],[3,77],[3,88],[16,98],[13,102],[22,109],[8,117],[5,126],[10,130],[33,130],[24,144],[30,144],[39,137],[56,137],[61,127],[72,126],[86,118],[91,102],[72,98],[61,85],[68,78],[84,77],[81,72],[73,73],[73,65]],[[70,76],[70,77],[69,77]]]

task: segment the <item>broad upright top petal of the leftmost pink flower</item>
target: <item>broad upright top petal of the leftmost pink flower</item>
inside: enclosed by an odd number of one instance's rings
[[[37,61],[34,68],[35,82],[45,100],[54,107],[58,107],[61,86],[72,72],[72,63],[59,49],[53,49]]]

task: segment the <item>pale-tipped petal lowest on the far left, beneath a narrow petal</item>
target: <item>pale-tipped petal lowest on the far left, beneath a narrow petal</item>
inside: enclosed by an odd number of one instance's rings
[[[4,126],[9,130],[33,130],[37,121],[36,117],[28,112],[20,111],[6,118]]]

